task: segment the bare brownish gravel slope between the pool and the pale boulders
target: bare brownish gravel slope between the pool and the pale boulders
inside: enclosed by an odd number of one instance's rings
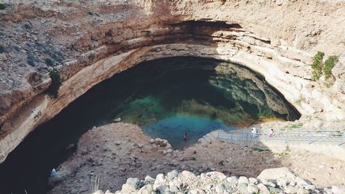
[[[286,166],[319,187],[345,183],[345,162],[325,155],[293,151],[283,155],[224,142],[195,144],[164,155],[166,148],[154,148],[149,140],[132,124],[89,130],[79,139],[75,155],[59,166],[49,193],[92,193],[91,180],[96,176],[99,189],[117,191],[128,177],[142,180],[175,169],[257,177],[266,168]]]

